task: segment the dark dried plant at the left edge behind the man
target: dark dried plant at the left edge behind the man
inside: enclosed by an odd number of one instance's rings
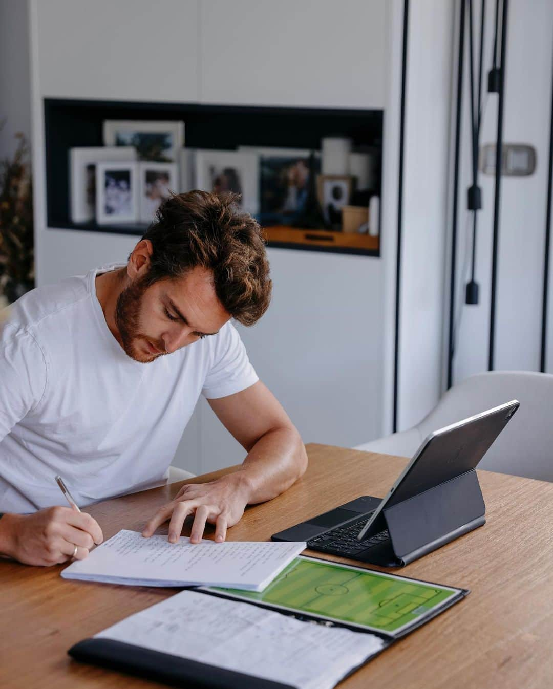
[[[0,161],[0,293],[14,302],[34,287],[29,147],[21,132],[12,158]]]

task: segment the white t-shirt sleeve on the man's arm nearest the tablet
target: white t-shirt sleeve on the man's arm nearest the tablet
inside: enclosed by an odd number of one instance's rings
[[[230,322],[221,328],[216,338],[211,367],[202,389],[208,400],[234,395],[259,380],[238,331]]]

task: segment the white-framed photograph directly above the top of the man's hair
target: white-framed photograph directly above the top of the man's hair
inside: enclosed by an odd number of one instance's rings
[[[196,180],[205,192],[240,194],[240,206],[255,214],[259,208],[257,154],[239,151],[196,151]]]

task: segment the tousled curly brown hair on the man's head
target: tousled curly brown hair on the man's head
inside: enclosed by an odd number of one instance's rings
[[[261,227],[238,199],[194,189],[162,203],[142,237],[153,247],[145,284],[180,278],[197,266],[208,269],[225,310],[254,325],[269,307],[272,282]]]

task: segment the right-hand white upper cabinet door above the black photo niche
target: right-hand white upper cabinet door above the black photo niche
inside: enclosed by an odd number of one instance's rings
[[[385,105],[388,0],[200,3],[203,103]]]

